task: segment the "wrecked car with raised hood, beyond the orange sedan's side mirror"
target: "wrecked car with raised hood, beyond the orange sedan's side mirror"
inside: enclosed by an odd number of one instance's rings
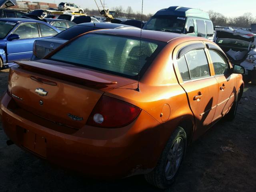
[[[222,48],[232,64],[246,69],[244,81],[256,84],[256,35],[239,29],[216,29],[214,42]]]

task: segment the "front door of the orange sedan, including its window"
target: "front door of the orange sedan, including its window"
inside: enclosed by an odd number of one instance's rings
[[[230,73],[230,63],[218,48],[209,46],[209,56],[214,68],[214,77],[218,81],[218,104],[213,121],[222,118],[231,108],[236,93],[236,74]],[[212,47],[212,48],[211,48]]]

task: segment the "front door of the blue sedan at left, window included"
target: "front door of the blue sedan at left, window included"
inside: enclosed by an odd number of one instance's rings
[[[8,62],[31,58],[34,41],[40,37],[37,24],[20,24],[12,34],[18,34],[20,39],[12,41],[7,40]]]

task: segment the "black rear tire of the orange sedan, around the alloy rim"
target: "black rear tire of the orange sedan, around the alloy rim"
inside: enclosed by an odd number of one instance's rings
[[[170,162],[168,162],[168,158],[174,155],[174,153],[172,153],[173,152],[172,149],[174,148],[174,144],[177,140],[182,140],[183,142],[182,155],[180,155],[181,159],[179,160],[178,166],[176,166],[176,170],[174,172],[171,171],[172,175],[170,178],[167,179],[166,168],[168,166],[168,163],[170,165]],[[186,146],[187,146],[186,132],[182,127],[178,127],[176,128],[176,130],[174,130],[174,132],[170,136],[154,170],[144,175],[146,181],[160,189],[169,188],[174,182],[178,174],[180,164],[182,163],[182,160],[186,153]]]

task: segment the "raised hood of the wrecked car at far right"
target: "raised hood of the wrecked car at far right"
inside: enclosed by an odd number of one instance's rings
[[[236,30],[236,29],[216,29],[214,42],[218,38],[229,38],[229,39],[239,39],[248,42],[252,42],[252,44],[256,45],[255,34],[244,31],[244,30]]]

